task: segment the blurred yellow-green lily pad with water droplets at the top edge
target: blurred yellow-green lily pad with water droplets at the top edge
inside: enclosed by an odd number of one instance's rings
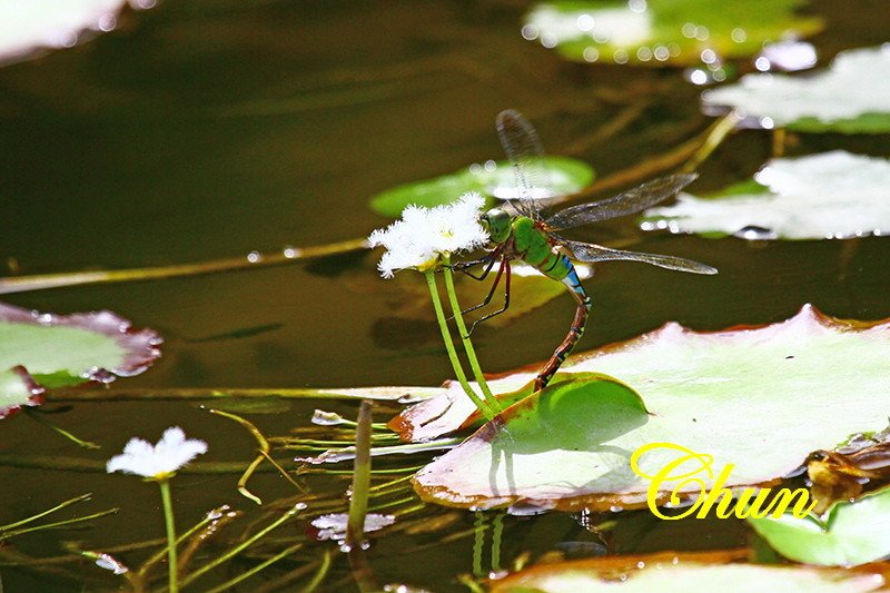
[[[801,0],[554,0],[526,14],[523,37],[575,61],[639,66],[719,65],[756,55],[790,32],[820,31],[794,13]]]

